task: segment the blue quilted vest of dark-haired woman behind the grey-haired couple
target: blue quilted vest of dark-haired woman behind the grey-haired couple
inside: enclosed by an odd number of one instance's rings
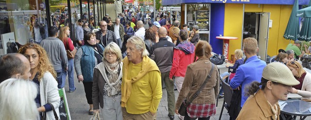
[[[99,44],[104,51],[104,47]],[[81,72],[83,75],[83,82],[93,82],[93,69],[96,66],[95,64],[95,55],[93,48],[88,45],[81,46],[83,54],[81,58]]]

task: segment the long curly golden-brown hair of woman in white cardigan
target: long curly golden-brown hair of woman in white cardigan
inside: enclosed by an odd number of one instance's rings
[[[56,73],[54,71],[53,65],[48,57],[47,52],[38,44],[28,43],[23,45],[18,53],[25,54],[27,49],[35,49],[39,54],[39,64],[38,64],[38,80],[40,80],[45,72],[50,72],[53,77],[56,79]]]

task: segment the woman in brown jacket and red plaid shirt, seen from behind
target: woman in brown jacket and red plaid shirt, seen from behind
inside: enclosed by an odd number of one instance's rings
[[[210,116],[216,114],[219,73],[217,66],[209,61],[211,50],[207,41],[200,41],[195,49],[195,57],[198,57],[198,60],[187,67],[184,83],[175,105],[175,113],[185,114],[185,120],[197,118],[209,120]],[[186,113],[181,113],[182,111],[179,110],[185,99],[188,104],[185,105],[186,110],[183,112]]]

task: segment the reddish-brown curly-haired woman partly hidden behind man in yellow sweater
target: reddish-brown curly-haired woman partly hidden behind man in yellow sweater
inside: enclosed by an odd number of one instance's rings
[[[157,41],[159,41],[159,38],[157,36],[156,31],[153,29],[146,29],[144,42],[146,45],[146,49],[149,52],[149,55],[152,55],[151,47],[152,47],[152,45],[157,43]]]

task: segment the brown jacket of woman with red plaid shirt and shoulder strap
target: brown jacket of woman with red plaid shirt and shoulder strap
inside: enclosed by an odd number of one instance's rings
[[[203,82],[206,80],[210,69],[211,62],[209,59],[199,59],[196,62],[188,65],[184,83],[179,92],[175,109],[179,109],[185,98],[187,98],[187,101],[189,101],[191,96],[200,89]],[[211,77],[208,79],[207,84],[205,85],[205,88],[203,88],[198,97],[192,101],[192,104],[215,104],[216,96],[218,93],[219,73],[218,68],[215,65],[214,70],[211,73]]]

